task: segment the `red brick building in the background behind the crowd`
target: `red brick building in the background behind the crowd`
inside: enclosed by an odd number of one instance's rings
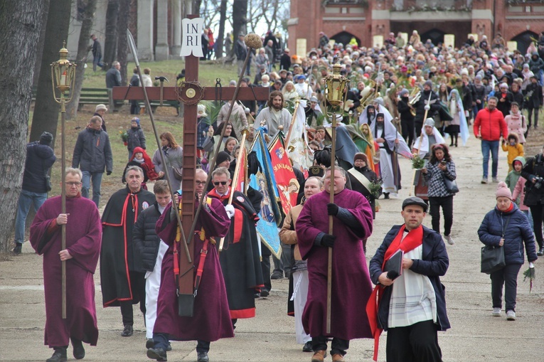
[[[413,30],[434,44],[453,34],[457,47],[469,33],[490,42],[501,33],[524,52],[544,31],[544,0],[291,0],[288,26],[292,53],[316,47],[320,31],[338,43],[355,37],[368,47],[381,45],[390,32],[410,36]]]

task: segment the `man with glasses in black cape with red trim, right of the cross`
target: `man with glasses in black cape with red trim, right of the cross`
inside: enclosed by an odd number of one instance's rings
[[[259,217],[250,199],[230,187],[228,169],[215,169],[212,181],[214,188],[208,196],[221,201],[230,217],[230,228],[219,261],[227,288],[230,318],[235,327],[238,319],[255,316],[255,289],[264,287],[255,228]],[[231,192],[234,195],[232,204],[229,204]]]

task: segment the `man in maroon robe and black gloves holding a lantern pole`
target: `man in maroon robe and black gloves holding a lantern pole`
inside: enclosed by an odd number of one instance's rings
[[[327,338],[332,337],[333,361],[344,361],[349,340],[372,338],[364,306],[372,292],[363,239],[372,233],[372,208],[361,193],[345,188],[346,171],[334,171],[334,203],[329,203],[331,170],[324,177],[324,191],[302,208],[297,220],[297,238],[303,260],[308,260],[308,301],[302,315],[311,335],[312,362],[324,360]],[[324,213],[327,210],[327,213]],[[334,229],[329,234],[329,215]],[[329,247],[333,248],[331,333],[326,333],[327,270]],[[354,287],[353,281],[356,281]]]

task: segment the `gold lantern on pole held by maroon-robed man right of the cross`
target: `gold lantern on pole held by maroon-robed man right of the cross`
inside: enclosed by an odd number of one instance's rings
[[[338,60],[333,65],[332,75],[325,77],[325,97],[327,102],[334,106],[335,109],[342,111],[341,105],[345,100],[344,90],[348,82],[348,78],[340,74],[341,65]],[[334,203],[334,162],[336,160],[336,112],[332,114],[332,146],[331,146],[331,187],[329,189],[329,202]],[[333,233],[333,217],[329,215],[329,234]],[[331,295],[332,295],[332,247],[329,247],[329,267],[327,270],[327,316],[326,316],[326,332],[331,333]]]

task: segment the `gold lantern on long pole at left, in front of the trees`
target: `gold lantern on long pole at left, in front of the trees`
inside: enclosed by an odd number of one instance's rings
[[[66,42],[63,42],[63,48],[58,52],[59,60],[51,63],[51,84],[53,85],[53,97],[55,102],[60,104],[60,139],[61,139],[61,213],[66,213],[66,188],[65,188],[65,169],[66,169],[66,149],[65,149],[65,123],[66,123],[66,104],[72,101],[71,90],[75,82],[75,64],[68,60],[68,49]],[[55,88],[60,95],[57,96]],[[68,92],[68,97],[65,93]],[[66,249],[66,225],[62,225],[61,250]],[[66,319],[66,262],[62,262],[62,311],[63,319]]]

